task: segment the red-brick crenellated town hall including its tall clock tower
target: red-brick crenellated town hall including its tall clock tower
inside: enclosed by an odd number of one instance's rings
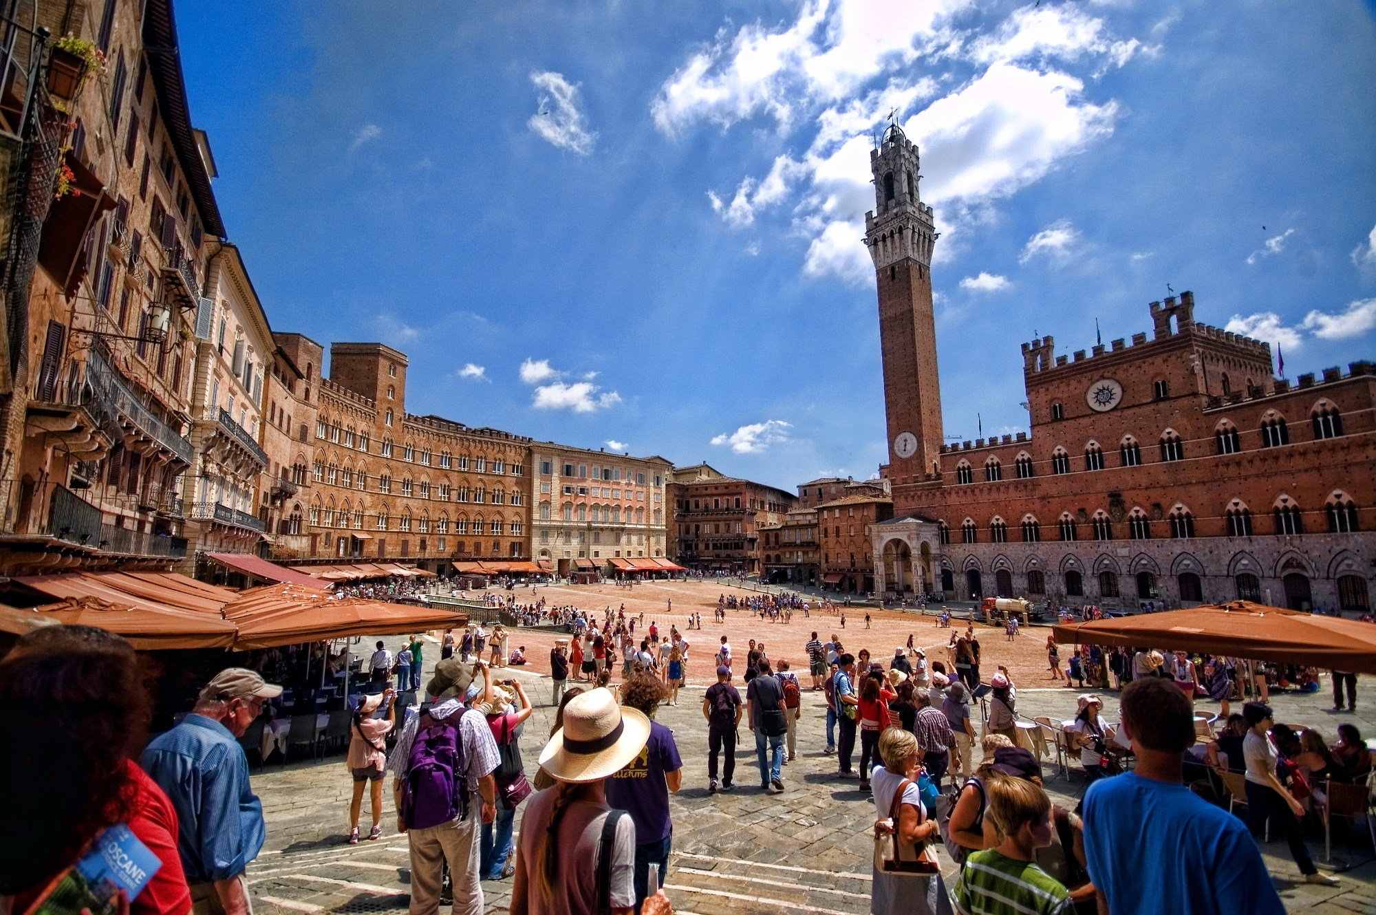
[[[1291,387],[1267,344],[1197,323],[1190,293],[1150,304],[1150,340],[1072,355],[1051,337],[1024,344],[1031,433],[940,444],[930,209],[899,177],[915,162],[896,128],[871,154],[882,475],[900,516],[871,538],[878,590],[1369,607],[1376,370],[1354,362]]]

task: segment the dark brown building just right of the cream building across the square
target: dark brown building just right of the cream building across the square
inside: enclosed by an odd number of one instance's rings
[[[706,462],[674,468],[674,556],[700,571],[758,574],[758,528],[783,521],[797,498],[787,490],[727,476]]]

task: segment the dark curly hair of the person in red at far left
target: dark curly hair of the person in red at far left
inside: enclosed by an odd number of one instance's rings
[[[129,819],[136,786],[127,760],[147,729],[147,693],[127,643],[36,648],[0,663],[0,715],[21,735],[0,742],[8,797],[0,834],[11,849],[0,893],[32,887],[98,831]]]

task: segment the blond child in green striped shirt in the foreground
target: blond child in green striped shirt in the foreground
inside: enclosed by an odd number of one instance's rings
[[[955,885],[956,908],[962,915],[1071,911],[1069,890],[1033,861],[1051,843],[1051,798],[1039,784],[1003,775],[988,780],[988,793],[999,843],[970,854]]]

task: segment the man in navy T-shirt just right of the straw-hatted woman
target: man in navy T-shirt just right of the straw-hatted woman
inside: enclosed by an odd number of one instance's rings
[[[622,707],[636,709],[649,720],[645,749],[607,779],[607,804],[630,813],[636,824],[636,905],[645,901],[649,865],[659,865],[660,881],[669,874],[673,823],[669,795],[682,787],[682,760],[673,732],[655,721],[655,707],[665,687],[652,674],[638,674],[621,687]]]

